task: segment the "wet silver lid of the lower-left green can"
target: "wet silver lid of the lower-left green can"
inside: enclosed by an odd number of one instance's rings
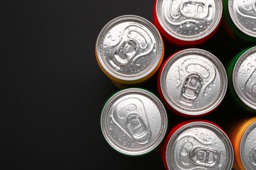
[[[115,150],[139,156],[154,150],[165,137],[167,113],[153,93],[129,88],[117,92],[106,102],[101,128]]]

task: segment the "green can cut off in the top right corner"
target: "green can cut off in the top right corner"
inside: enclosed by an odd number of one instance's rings
[[[256,42],[256,4],[254,0],[223,0],[223,26],[240,44]]]

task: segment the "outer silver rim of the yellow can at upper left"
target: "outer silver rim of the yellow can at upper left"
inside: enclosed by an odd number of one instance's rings
[[[154,57],[154,64],[150,65],[145,71],[138,73],[136,75],[123,75],[121,73],[118,73],[117,71],[114,71],[111,67],[109,67],[106,62],[102,59],[101,55],[101,42],[104,36],[106,36],[106,33],[108,30],[110,30],[115,25],[125,22],[125,21],[133,21],[138,22],[139,24],[145,26],[147,29],[150,30],[152,35],[154,35],[154,39],[156,39],[156,42],[159,42],[156,44],[158,48],[158,53],[156,54],[156,57]],[[146,76],[150,75],[152,72],[154,72],[156,69],[158,69],[158,65],[160,64],[162,58],[163,58],[163,40],[161,38],[160,32],[155,27],[154,24],[152,24],[150,21],[148,21],[146,18],[142,18],[141,16],[133,15],[133,14],[127,14],[123,16],[117,16],[116,18],[110,20],[104,27],[101,29],[100,33],[98,34],[98,37],[96,39],[96,45],[95,45],[95,53],[96,53],[96,59],[98,61],[98,64],[100,65],[100,68],[104,73],[112,80],[115,80],[117,82],[122,81],[137,81],[142,78],[145,78]]]

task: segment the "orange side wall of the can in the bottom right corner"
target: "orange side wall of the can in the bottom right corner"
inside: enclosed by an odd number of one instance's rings
[[[255,121],[256,117],[244,117],[232,122],[232,126],[230,125],[226,130],[234,149],[234,169],[245,169],[240,156],[240,144],[246,129]]]

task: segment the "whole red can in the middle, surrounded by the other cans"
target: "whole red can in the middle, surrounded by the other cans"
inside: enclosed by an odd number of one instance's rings
[[[187,48],[161,66],[158,92],[173,112],[186,117],[209,114],[223,101],[227,76],[219,59],[206,50]]]

